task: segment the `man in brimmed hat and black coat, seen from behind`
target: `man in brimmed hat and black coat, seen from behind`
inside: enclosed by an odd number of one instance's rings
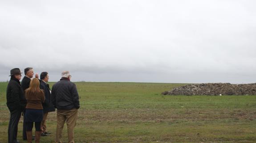
[[[20,69],[12,69],[10,76],[11,79],[8,83],[6,91],[6,104],[11,115],[8,126],[8,143],[19,143],[17,140],[18,123],[21,113],[25,110],[26,99],[24,96],[24,91],[20,85]]]

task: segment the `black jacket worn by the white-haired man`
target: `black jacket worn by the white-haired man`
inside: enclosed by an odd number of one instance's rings
[[[59,110],[79,108],[79,97],[76,85],[68,78],[62,77],[52,88],[53,106]]]

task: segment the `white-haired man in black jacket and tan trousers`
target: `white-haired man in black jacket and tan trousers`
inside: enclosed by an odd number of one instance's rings
[[[69,71],[61,73],[61,80],[53,85],[53,106],[57,108],[56,143],[62,143],[61,132],[67,122],[69,143],[74,143],[74,127],[77,122],[77,109],[80,107],[76,85],[70,81]]]

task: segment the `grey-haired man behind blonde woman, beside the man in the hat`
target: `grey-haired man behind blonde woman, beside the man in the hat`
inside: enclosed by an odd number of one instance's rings
[[[28,68],[25,68],[24,69],[24,74],[25,76],[23,77],[22,81],[21,81],[21,86],[25,92],[26,89],[29,88],[29,84],[30,84],[30,81],[31,81],[31,78],[33,77],[34,75],[34,71],[33,71],[33,68],[31,67],[28,67]],[[38,74],[36,74],[35,76],[36,78],[38,78]],[[22,138],[23,140],[27,140],[27,133],[26,133],[26,122],[25,122],[25,119],[23,118],[23,133],[22,133]]]

